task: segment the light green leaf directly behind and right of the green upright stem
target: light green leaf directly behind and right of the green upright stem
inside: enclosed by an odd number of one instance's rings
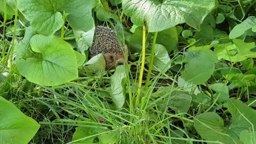
[[[150,57],[148,57],[149,61]],[[171,68],[170,64],[170,57],[167,53],[167,50],[165,49],[164,46],[155,44],[155,57],[154,57],[154,62],[153,62],[153,70],[155,71],[166,71]],[[167,65],[168,64],[168,65]]]

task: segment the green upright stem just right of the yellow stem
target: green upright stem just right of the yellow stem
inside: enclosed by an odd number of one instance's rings
[[[147,90],[148,90],[150,75],[151,75],[151,71],[152,71],[152,68],[153,68],[153,62],[154,62],[154,57],[155,57],[155,41],[156,41],[156,37],[158,37],[158,32],[155,32],[155,34],[154,34],[152,50],[151,50],[151,59],[150,59],[150,64],[149,64],[149,68],[148,68],[148,75],[147,75],[147,80],[146,80],[146,84],[145,84],[145,89],[144,89],[145,92],[147,92]]]

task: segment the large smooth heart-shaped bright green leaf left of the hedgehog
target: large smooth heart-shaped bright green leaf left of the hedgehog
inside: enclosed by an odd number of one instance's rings
[[[44,86],[56,86],[78,77],[77,59],[72,47],[53,35],[34,35],[31,48],[35,58],[19,59],[21,75],[29,81]]]

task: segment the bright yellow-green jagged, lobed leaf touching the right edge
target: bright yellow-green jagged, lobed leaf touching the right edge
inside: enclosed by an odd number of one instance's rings
[[[233,45],[223,47],[218,52],[218,59],[225,59],[231,62],[240,62],[247,58],[256,58],[256,52],[251,51],[255,47],[255,43],[245,43],[241,39],[233,39]]]

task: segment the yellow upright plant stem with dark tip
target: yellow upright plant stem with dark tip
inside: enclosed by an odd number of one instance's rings
[[[143,23],[143,35],[142,35],[142,59],[141,59],[141,72],[139,74],[139,83],[138,83],[138,95],[135,101],[135,106],[138,106],[139,99],[141,97],[141,86],[142,86],[142,77],[145,64],[145,55],[146,55],[146,22]]]

